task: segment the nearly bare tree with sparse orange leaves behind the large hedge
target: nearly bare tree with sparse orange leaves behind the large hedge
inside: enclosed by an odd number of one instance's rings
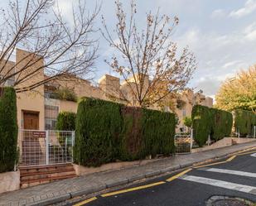
[[[117,23],[114,34],[109,31],[104,17],[101,32],[118,55],[106,62],[128,85],[138,106],[149,107],[171,97],[171,93],[186,89],[196,69],[196,59],[187,47],[179,51],[176,43],[171,41],[178,18],[161,16],[159,10],[156,15],[149,12],[146,28],[139,31],[135,2],[131,1],[129,16],[121,2],[116,1],[115,5]],[[125,98],[123,90],[118,90],[119,98]]]

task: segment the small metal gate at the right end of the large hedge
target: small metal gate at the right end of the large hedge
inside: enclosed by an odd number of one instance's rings
[[[192,131],[191,134],[193,134]],[[176,146],[176,153],[186,154],[191,152],[193,146],[193,137],[191,134],[178,133],[175,135],[174,143]]]

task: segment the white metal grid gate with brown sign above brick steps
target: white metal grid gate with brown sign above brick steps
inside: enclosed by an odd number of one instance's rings
[[[74,131],[20,130],[19,165],[54,165],[73,161]]]

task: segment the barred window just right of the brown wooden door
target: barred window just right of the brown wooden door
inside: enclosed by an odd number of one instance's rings
[[[55,130],[57,117],[59,114],[59,107],[52,105],[45,105],[45,129]]]

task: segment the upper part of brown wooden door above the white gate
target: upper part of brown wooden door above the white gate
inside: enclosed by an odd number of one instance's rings
[[[38,130],[39,129],[39,113],[24,111],[23,112],[24,129]]]

